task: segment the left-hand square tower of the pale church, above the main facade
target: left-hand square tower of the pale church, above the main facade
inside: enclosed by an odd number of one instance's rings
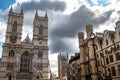
[[[11,7],[8,14],[5,43],[21,44],[23,18],[23,8],[21,9],[21,13],[14,13]]]

